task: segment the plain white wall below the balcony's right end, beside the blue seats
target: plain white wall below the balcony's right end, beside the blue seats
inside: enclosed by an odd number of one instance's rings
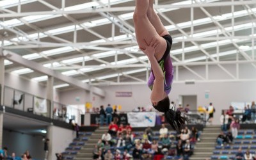
[[[47,129],[47,138],[49,138],[49,159],[56,159],[55,154],[61,153],[68,147],[69,143],[76,137],[76,132],[61,127],[49,126]]]

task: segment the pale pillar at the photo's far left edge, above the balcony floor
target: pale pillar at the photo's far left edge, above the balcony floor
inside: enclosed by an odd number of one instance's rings
[[[0,47],[0,105],[3,106],[4,104],[4,57],[1,56],[3,55],[3,50]]]

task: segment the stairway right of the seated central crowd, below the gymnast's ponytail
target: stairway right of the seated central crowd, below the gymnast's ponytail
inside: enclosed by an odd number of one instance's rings
[[[220,125],[207,125],[202,131],[200,141],[196,142],[191,160],[211,159],[212,151],[216,145],[216,138],[220,134]]]

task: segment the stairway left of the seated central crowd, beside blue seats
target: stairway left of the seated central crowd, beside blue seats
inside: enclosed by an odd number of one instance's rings
[[[74,160],[92,160],[93,149],[99,139],[102,137],[102,134],[104,134],[106,131],[108,131],[108,127],[99,127],[96,129],[84,147],[79,150]]]

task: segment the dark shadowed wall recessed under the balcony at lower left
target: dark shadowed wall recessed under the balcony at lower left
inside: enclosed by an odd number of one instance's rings
[[[21,156],[26,150],[29,150],[33,158],[44,159],[42,136],[3,130],[3,147],[8,148],[8,155],[12,155],[12,152],[15,152],[16,156]]]

